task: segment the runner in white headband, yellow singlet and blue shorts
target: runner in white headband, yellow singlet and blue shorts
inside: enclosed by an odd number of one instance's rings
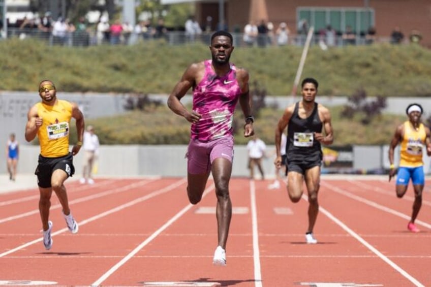
[[[406,113],[409,120],[398,125],[389,146],[389,181],[395,175],[395,165],[393,154],[398,143],[400,148],[400,160],[398,172],[396,174],[396,196],[402,198],[409,185],[410,179],[415,191],[415,201],[413,202],[413,212],[407,229],[411,232],[419,232],[415,226],[415,219],[422,206],[422,190],[425,183],[423,172],[422,149],[426,146],[426,153],[431,155],[431,133],[429,128],[421,122],[423,109],[419,104],[410,104]]]

